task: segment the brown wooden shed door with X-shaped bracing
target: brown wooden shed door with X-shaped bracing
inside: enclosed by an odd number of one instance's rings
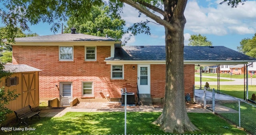
[[[22,73],[22,107],[36,105],[36,73]]]

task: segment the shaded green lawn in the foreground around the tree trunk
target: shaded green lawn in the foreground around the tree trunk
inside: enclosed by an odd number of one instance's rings
[[[127,134],[166,134],[152,122],[159,112],[128,112]],[[245,135],[245,131],[212,113],[188,113],[190,120],[200,131],[185,134],[225,134]],[[68,112],[62,117],[42,117],[30,120],[35,131],[11,131],[8,135],[57,135],[57,134],[124,134],[124,112]],[[228,128],[224,128],[228,127]]]

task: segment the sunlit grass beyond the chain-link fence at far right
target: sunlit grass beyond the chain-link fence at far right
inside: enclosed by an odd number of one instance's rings
[[[196,85],[196,87],[200,87],[200,85]],[[217,85],[210,85],[210,87],[217,90]],[[244,85],[220,85],[220,92],[225,93],[227,95],[231,95],[233,97],[244,99]],[[253,93],[256,93],[256,86],[248,85],[249,99],[251,98]],[[245,96],[246,96],[246,93],[245,93]]]

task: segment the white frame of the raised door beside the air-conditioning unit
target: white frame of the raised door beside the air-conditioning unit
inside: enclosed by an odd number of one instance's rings
[[[141,75],[140,67],[147,67],[147,75],[145,74]],[[147,81],[148,81],[147,84],[140,84],[141,77],[147,77]],[[138,89],[140,94],[150,94],[150,65],[138,65],[137,82],[138,82]]]

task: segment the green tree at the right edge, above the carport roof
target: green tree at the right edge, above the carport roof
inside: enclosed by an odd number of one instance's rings
[[[256,34],[250,38],[244,38],[237,47],[238,52],[256,58]]]

